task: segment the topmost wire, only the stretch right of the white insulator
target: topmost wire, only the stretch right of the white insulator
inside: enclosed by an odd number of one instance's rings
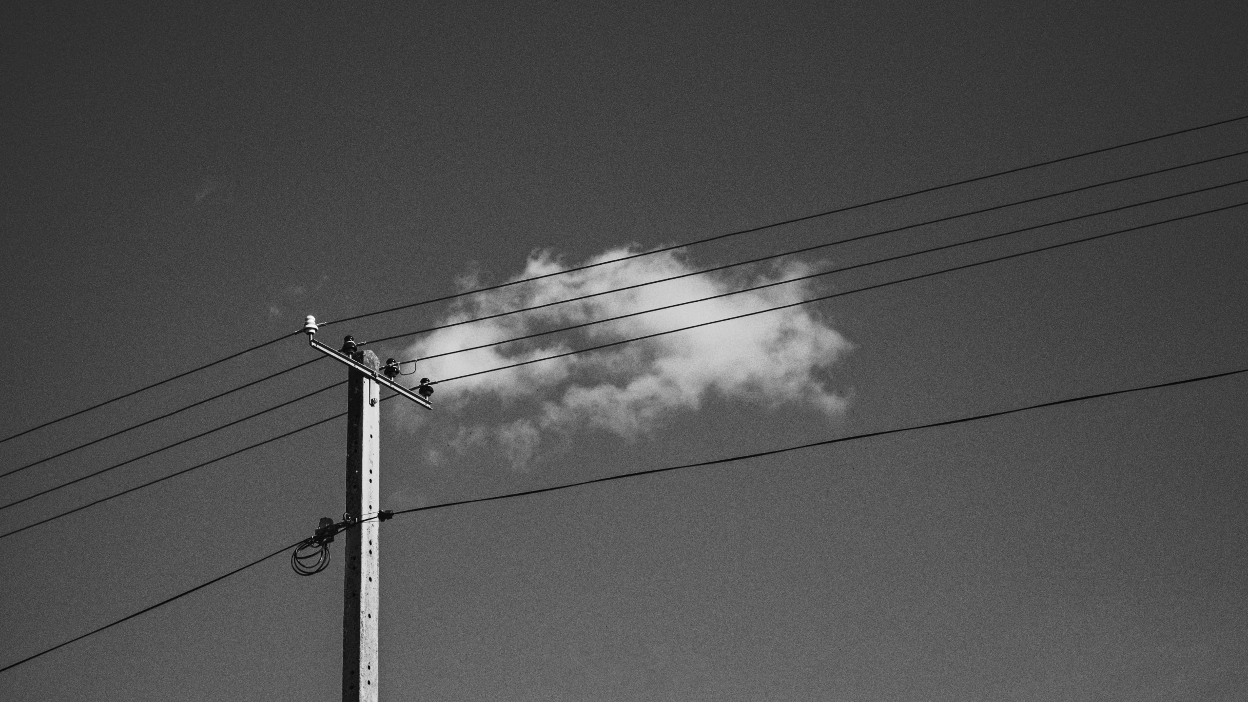
[[[924,194],[927,194],[927,192],[935,192],[937,190],[945,190],[945,189],[948,189],[948,187],[956,187],[958,185],[968,185],[968,184],[972,184],[972,182],[978,182],[981,180],[988,180],[988,179],[993,179],[993,177],[1000,177],[1000,176],[1005,176],[1005,175],[1010,175],[1010,174],[1016,174],[1016,172],[1021,172],[1021,171],[1026,171],[1026,170],[1031,170],[1031,169],[1038,169],[1038,167],[1042,167],[1042,166],[1051,166],[1053,164],[1061,164],[1063,161],[1071,161],[1073,159],[1082,159],[1085,156],[1092,156],[1092,155],[1096,155],[1096,154],[1104,154],[1107,151],[1114,151],[1117,149],[1126,149],[1128,146],[1137,146],[1139,144],[1147,144],[1149,141],[1157,141],[1159,139],[1167,139],[1167,137],[1171,137],[1171,136],[1178,136],[1181,134],[1188,134],[1188,132],[1192,132],[1192,131],[1199,131],[1202,129],[1209,129],[1209,127],[1214,127],[1214,126],[1221,126],[1221,125],[1226,125],[1226,124],[1231,124],[1231,122],[1237,122],[1237,121],[1246,120],[1246,119],[1248,119],[1248,115],[1242,115],[1242,116],[1238,116],[1238,117],[1231,117],[1229,120],[1221,120],[1221,121],[1216,121],[1216,122],[1209,122],[1209,124],[1201,125],[1201,126],[1181,129],[1178,131],[1171,131],[1171,132],[1161,134],[1161,135],[1157,135],[1157,136],[1149,136],[1147,139],[1137,139],[1136,141],[1127,141],[1124,144],[1117,144],[1114,146],[1104,146],[1104,147],[1101,147],[1101,149],[1093,149],[1091,151],[1082,151],[1080,154],[1073,154],[1071,156],[1062,156],[1060,159],[1051,159],[1048,161],[1040,161],[1040,162],[1030,164],[1030,165],[1026,165],[1026,166],[1017,166],[1017,167],[1013,167],[1013,169],[1007,169],[1007,170],[1003,170],[1003,171],[996,171],[996,172],[982,175],[982,176],[975,176],[975,177],[970,177],[970,179],[965,179],[965,180],[947,182],[947,184],[943,184],[943,185],[934,185],[934,186],[930,186],[930,187],[924,187],[921,190],[912,190],[910,192],[902,192],[900,195],[890,195],[887,197],[880,197],[880,199],[876,199],[876,200],[869,200],[866,202],[859,202],[856,205],[845,205],[842,207],[836,207],[834,210],[826,210],[826,211],[822,211],[822,212],[815,212],[814,215],[804,215],[801,217],[794,217],[794,219],[790,219],[790,220],[784,220],[784,221],[779,221],[779,222],[771,222],[771,224],[766,224],[766,225],[761,225],[761,226],[756,226],[756,227],[730,231],[728,234],[719,234],[719,235],[715,235],[715,236],[708,236],[705,239],[698,239],[698,240],[694,240],[694,241],[686,241],[684,244],[674,244],[671,246],[664,246],[664,247],[654,249],[654,250],[650,250],[650,251],[643,251],[640,254],[633,254],[630,256],[623,256],[620,259],[612,259],[610,261],[600,261],[600,262],[597,262],[597,264],[585,264],[583,266],[577,266],[577,267],[567,269],[567,270],[563,270],[563,271],[557,271],[557,272],[553,272],[553,274],[544,274],[544,275],[539,275],[539,276],[533,276],[533,277],[527,277],[527,279],[520,279],[520,280],[513,280],[510,282],[500,282],[498,285],[490,285],[490,286],[485,286],[485,287],[478,287],[478,289],[468,290],[468,291],[464,291],[464,292],[457,292],[454,295],[446,295],[446,296],[442,296],[442,297],[434,297],[432,300],[422,300],[419,302],[411,302],[411,304],[407,304],[407,305],[399,305],[397,307],[388,307],[386,310],[378,310],[376,312],[364,312],[362,315],[354,315],[354,316],[349,316],[349,317],[343,317],[341,320],[334,320],[332,322],[324,322],[321,326],[323,327],[323,326],[328,326],[331,324],[348,322],[348,321],[352,321],[352,320],[359,320],[359,319],[364,319],[364,317],[372,317],[374,315],[384,315],[387,312],[397,312],[399,310],[408,310],[411,307],[418,307],[421,305],[429,305],[429,304],[433,304],[433,302],[446,302],[447,300],[454,300],[454,299],[464,297],[464,296],[468,296],[468,295],[475,295],[478,292],[487,292],[487,291],[490,291],[490,290],[499,290],[499,289],[503,289],[503,287],[510,287],[513,285],[520,285],[522,282],[530,282],[530,281],[534,281],[534,280],[542,280],[542,279],[547,279],[547,277],[552,277],[552,276],[557,276],[557,275],[564,275],[564,274],[570,274],[570,272],[575,272],[575,271],[583,271],[583,270],[593,269],[593,267],[597,267],[597,266],[605,266],[608,264],[618,264],[620,261],[628,261],[628,260],[631,260],[631,259],[639,259],[641,256],[653,256],[654,254],[663,254],[664,251],[674,251],[676,249],[684,249],[686,246],[696,246],[696,245],[700,245],[700,244],[708,244],[708,242],[711,242],[711,241],[718,241],[720,239],[728,239],[730,236],[740,236],[743,234],[754,234],[756,231],[763,231],[763,230],[766,230],[766,229],[774,229],[774,227],[778,227],[778,226],[786,226],[786,225],[804,222],[804,221],[814,220],[814,219],[819,219],[819,217],[826,217],[829,215],[837,215],[837,214],[841,214],[841,212],[849,212],[850,210],[857,210],[857,209],[861,209],[861,207],[870,207],[872,205],[882,205],[884,202],[892,202],[894,200],[902,200],[905,197],[914,197],[916,195],[924,195]]]

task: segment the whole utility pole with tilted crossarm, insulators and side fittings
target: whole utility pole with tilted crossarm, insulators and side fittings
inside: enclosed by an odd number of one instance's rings
[[[316,340],[316,317],[303,325],[308,344],[347,366],[347,510],[342,522],[323,518],[316,543],[324,548],[333,535],[346,532],[342,587],[342,702],[377,702],[378,628],[381,625],[381,388],[389,387],[427,410],[433,387],[428,378],[409,388],[401,385],[399,363],[386,365],[372,351],[361,351],[352,337],[341,350]],[[412,371],[414,372],[414,370]],[[406,373],[411,375],[411,373]],[[352,528],[354,527],[354,528]],[[322,537],[323,532],[323,537]],[[324,561],[328,563],[328,560]],[[323,567],[323,566],[319,566]],[[312,571],[316,572],[316,571]]]

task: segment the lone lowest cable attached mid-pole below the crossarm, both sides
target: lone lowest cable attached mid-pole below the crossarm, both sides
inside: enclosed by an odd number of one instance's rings
[[[814,447],[817,447],[817,446],[830,446],[830,445],[834,445],[834,443],[845,443],[845,442],[850,442],[850,441],[860,441],[860,440],[864,440],[864,438],[875,438],[875,437],[879,437],[879,436],[889,436],[889,435],[902,433],[902,432],[907,432],[907,431],[919,431],[919,430],[925,430],[925,428],[936,428],[936,427],[942,427],[942,426],[952,426],[952,425],[958,425],[958,423],[965,423],[965,422],[972,422],[972,421],[978,421],[978,420],[987,420],[987,418],[992,418],[992,417],[1001,417],[1001,416],[1006,416],[1006,415],[1013,415],[1013,413],[1018,413],[1018,412],[1027,412],[1027,411],[1032,411],[1032,410],[1041,410],[1041,408],[1045,408],[1045,407],[1056,407],[1058,405],[1068,405],[1068,403],[1073,403],[1073,402],[1083,402],[1083,401],[1087,401],[1087,400],[1097,400],[1097,398],[1101,398],[1101,397],[1112,397],[1112,396],[1116,396],[1116,395],[1126,395],[1126,393],[1129,393],[1129,392],[1142,392],[1142,391],[1146,391],[1146,390],[1158,390],[1158,388],[1162,388],[1162,387],[1173,387],[1173,386],[1187,385],[1187,383],[1193,383],[1193,382],[1202,382],[1202,381],[1208,381],[1208,380],[1229,377],[1229,376],[1234,376],[1234,375],[1239,375],[1239,373],[1244,373],[1244,372],[1248,372],[1248,368],[1238,368],[1238,370],[1226,371],[1226,372],[1221,372],[1221,373],[1211,373],[1211,375],[1204,375],[1204,376],[1187,377],[1187,378],[1173,380],[1173,381],[1167,381],[1167,382],[1158,382],[1158,383],[1153,383],[1153,385],[1143,385],[1143,386],[1137,386],[1137,387],[1128,387],[1128,388],[1124,388],[1124,390],[1111,390],[1111,391],[1107,391],[1107,392],[1096,392],[1096,393],[1091,393],[1091,395],[1080,395],[1077,397],[1066,397],[1066,398],[1062,398],[1062,400],[1051,400],[1048,402],[1040,402],[1040,403],[1036,403],[1036,405],[1027,405],[1027,406],[1023,406],[1023,407],[1013,407],[1013,408],[1010,408],[1010,410],[1000,410],[1000,411],[996,411],[996,412],[986,412],[986,413],[981,413],[981,415],[972,415],[972,416],[966,416],[966,417],[957,417],[957,418],[953,418],[953,420],[943,420],[943,421],[940,421],[940,422],[927,422],[927,423],[922,423],[922,425],[911,425],[911,426],[906,426],[906,427],[897,427],[897,428],[871,431],[871,432],[866,432],[866,433],[855,433],[852,436],[842,436],[842,437],[839,437],[839,438],[826,438],[826,440],[822,440],[822,441],[814,441],[814,442],[810,442],[810,443],[801,443],[801,445],[797,445],[797,446],[785,446],[782,448],[771,448],[769,451],[759,451],[759,452],[745,453],[745,455],[740,455],[740,456],[728,456],[725,458],[714,458],[714,460],[710,460],[710,461],[701,461],[701,462],[698,462],[698,463],[684,463],[684,465],[680,465],[680,466],[668,466],[668,467],[663,467],[663,468],[650,468],[650,470],[645,470],[645,471],[634,471],[634,472],[628,472],[628,473],[618,473],[618,475],[613,475],[613,476],[607,476],[607,477],[600,477],[600,478],[593,478],[593,480],[585,480],[585,481],[580,481],[580,482],[555,485],[555,486],[550,486],[550,487],[539,487],[539,488],[535,488],[535,490],[524,490],[524,491],[520,491],[520,492],[509,492],[509,493],[505,493],[505,495],[493,495],[493,496],[489,496],[489,497],[475,497],[475,498],[472,498],[472,500],[458,500],[458,501],[454,501],[454,502],[443,502],[441,505],[428,505],[428,506],[424,506],[424,507],[412,507],[409,510],[396,510],[391,515],[392,516],[409,515],[409,513],[413,513],[413,512],[426,512],[426,511],[429,511],[429,510],[442,510],[442,508],[446,508],[446,507],[458,507],[458,506],[463,506],[463,505],[474,505],[474,503],[478,503],[478,502],[493,502],[493,501],[497,501],[497,500],[510,500],[513,497],[527,497],[527,496],[530,496],[530,495],[540,495],[543,492],[554,492],[554,491],[558,491],[558,490],[570,490],[573,487],[583,487],[583,486],[587,486],[587,485],[593,485],[593,483],[599,483],[599,482],[609,482],[609,481],[615,481],[615,480],[625,480],[625,478],[648,476],[648,475],[656,475],[656,473],[663,473],[663,472],[679,471],[679,470],[684,470],[684,468],[696,468],[696,467],[715,466],[715,465],[723,465],[723,463],[733,463],[733,462],[736,462],[736,461],[748,461],[748,460],[751,460],[751,458],[761,458],[761,457],[765,457],[765,456],[775,456],[775,455],[779,455],[779,453],[787,453],[790,451],[801,451],[801,450],[805,450],[805,448],[814,448]],[[391,397],[393,397],[393,395]],[[342,416],[342,415],[338,415],[338,416]],[[329,417],[329,418],[334,418],[334,417]],[[381,516],[379,513],[378,515],[373,515],[372,517],[367,517],[364,520],[361,520],[361,522],[363,522],[363,521],[371,521],[371,520],[374,520],[374,518],[379,518],[379,516]],[[359,523],[359,522],[356,522],[356,523]],[[122,623],[125,621],[132,620],[132,618],[135,618],[135,617],[137,617],[140,615],[144,615],[146,612],[150,612],[150,611],[152,611],[152,610],[155,610],[157,607],[162,607],[165,605],[168,605],[170,602],[173,602],[175,600],[178,600],[181,597],[191,595],[192,592],[202,590],[202,588],[205,588],[205,587],[207,587],[210,585],[217,583],[217,582],[220,582],[220,581],[222,581],[222,580],[225,580],[225,578],[227,578],[230,576],[240,573],[240,572],[242,572],[242,571],[245,571],[245,570],[247,570],[247,568],[250,568],[252,566],[257,566],[257,565],[260,565],[260,563],[262,563],[262,562],[265,562],[265,561],[267,561],[267,560],[270,560],[270,558],[272,558],[275,556],[285,553],[286,551],[290,551],[291,548],[295,548],[296,546],[298,546],[302,542],[303,542],[303,540],[300,540],[300,541],[297,541],[295,543],[291,543],[288,546],[283,546],[283,547],[278,548],[277,551],[273,551],[272,553],[268,553],[267,556],[262,556],[262,557],[260,557],[260,558],[257,558],[257,560],[255,560],[255,561],[252,561],[252,562],[250,562],[250,563],[247,563],[245,566],[240,566],[240,567],[237,567],[237,568],[235,568],[235,570],[232,570],[232,571],[230,571],[230,572],[227,572],[225,575],[217,576],[217,577],[215,577],[215,578],[212,578],[212,580],[210,580],[207,582],[197,585],[197,586],[195,586],[195,587],[192,587],[190,590],[182,591],[182,592],[175,595],[173,597],[162,600],[162,601],[160,601],[160,602],[157,602],[155,605],[151,605],[149,607],[145,607],[145,608],[142,608],[142,610],[140,610],[140,611],[137,611],[137,612],[135,612],[132,615],[127,615],[127,616],[125,616],[125,617],[122,617],[120,620],[116,620],[114,622],[110,622],[110,623],[107,623],[107,625],[105,625],[102,627],[95,628],[95,630],[89,631],[89,632],[86,632],[84,635],[80,635],[80,636],[76,636],[76,637],[70,638],[67,641],[64,641],[61,643],[57,643],[56,646],[52,646],[50,648],[45,648],[45,650],[42,650],[42,651],[32,655],[32,656],[27,656],[27,657],[22,658],[20,661],[15,662],[15,663],[10,663],[10,665],[0,668],[0,673],[5,672],[7,670],[15,668],[15,667],[17,667],[17,666],[20,666],[22,663],[29,662],[29,661],[34,661],[35,658],[39,658],[40,656],[44,656],[46,653],[51,653],[52,651],[56,651],[57,648],[61,648],[61,647],[67,646],[70,643],[74,643],[75,641],[80,641],[80,640],[86,638],[86,637],[89,637],[91,635],[99,633],[99,632],[101,632],[104,630],[107,630],[110,627],[120,625],[120,623]]]

